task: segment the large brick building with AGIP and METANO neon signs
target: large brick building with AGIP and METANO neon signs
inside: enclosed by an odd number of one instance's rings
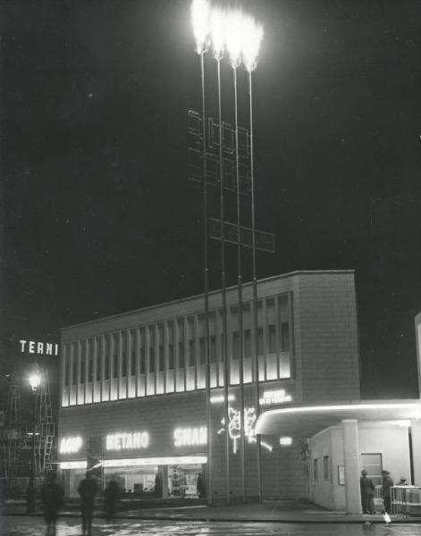
[[[59,462],[66,494],[87,466],[129,493],[197,497],[212,441],[213,499],[242,490],[237,289],[227,290],[229,423],[223,404],[221,292],[209,296],[211,430],[206,430],[204,298],[189,297],[64,328]],[[260,411],[358,400],[358,333],[352,271],[292,272],[257,283]],[[252,287],[243,286],[245,489],[257,496],[256,381]],[[299,432],[262,441],[264,498],[308,495],[306,440]],[[199,484],[198,484],[199,482]]]

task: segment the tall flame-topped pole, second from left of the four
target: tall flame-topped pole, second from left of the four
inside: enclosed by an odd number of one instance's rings
[[[221,59],[216,58],[216,68],[218,77],[218,123],[219,123],[219,179],[220,179],[220,214],[221,214],[221,291],[222,291],[222,313],[223,313],[223,406],[225,420],[225,487],[226,500],[230,504],[230,434],[228,433],[228,394],[230,375],[228,367],[228,321],[227,321],[227,306],[226,306],[226,274],[225,274],[225,228],[224,222],[224,199],[223,199],[223,114],[221,105]]]

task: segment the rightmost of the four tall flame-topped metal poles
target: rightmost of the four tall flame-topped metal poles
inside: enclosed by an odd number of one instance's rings
[[[257,265],[256,265],[256,210],[255,210],[255,173],[254,173],[254,139],[253,139],[253,84],[251,70],[248,70],[248,95],[250,104],[250,189],[251,189],[251,249],[253,257],[253,340],[255,341],[255,358],[253,360],[255,378],[255,406],[256,419],[260,415],[260,386],[259,386],[259,366],[258,366],[258,340],[257,340]],[[256,437],[257,442],[257,490],[258,499],[262,501],[262,452],[260,436]]]

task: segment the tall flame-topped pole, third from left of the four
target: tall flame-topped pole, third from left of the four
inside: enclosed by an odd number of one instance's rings
[[[238,290],[238,328],[239,328],[239,383],[240,383],[240,462],[242,500],[246,502],[246,460],[244,453],[244,374],[243,374],[243,337],[242,337],[242,277],[241,277],[241,198],[240,198],[240,164],[239,164],[239,117],[237,67],[234,73],[234,108],[235,108],[235,176],[237,185],[237,290]]]

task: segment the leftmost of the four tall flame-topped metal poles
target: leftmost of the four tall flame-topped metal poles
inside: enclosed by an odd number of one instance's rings
[[[212,419],[210,407],[210,362],[209,362],[209,267],[207,259],[207,177],[206,177],[206,107],[205,107],[205,61],[200,54],[202,79],[202,156],[203,156],[203,280],[205,294],[205,361],[206,361],[206,428],[207,428],[207,504],[212,506]]]

